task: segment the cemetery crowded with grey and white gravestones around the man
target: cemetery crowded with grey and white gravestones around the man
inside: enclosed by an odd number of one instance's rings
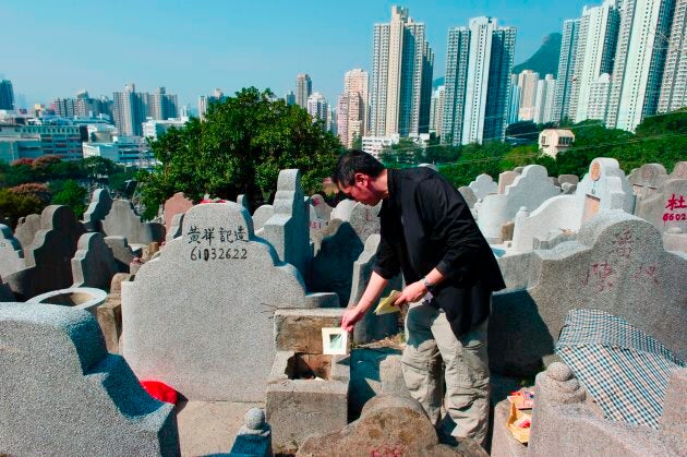
[[[366,286],[379,207],[329,207],[301,180],[281,170],[253,212],[177,193],[144,221],[97,190],[80,217],[49,205],[0,226],[0,454],[485,455],[439,443],[409,397],[399,313],[369,313],[348,354],[323,353]],[[535,164],[458,192],[507,284],[485,448],[683,453],[687,163],[626,176],[598,157],[581,179]],[[527,445],[506,399],[523,385]]]

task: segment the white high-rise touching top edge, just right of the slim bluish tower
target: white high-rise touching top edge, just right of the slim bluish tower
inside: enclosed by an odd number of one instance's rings
[[[602,73],[613,72],[620,14],[618,0],[605,0],[601,7],[582,10],[570,94],[570,118],[575,122],[589,119],[592,84]]]

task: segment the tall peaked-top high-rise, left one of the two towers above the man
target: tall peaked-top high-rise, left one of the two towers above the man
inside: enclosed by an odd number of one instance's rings
[[[433,68],[424,24],[409,17],[408,9],[393,7],[391,21],[374,26],[371,135],[429,131]]]

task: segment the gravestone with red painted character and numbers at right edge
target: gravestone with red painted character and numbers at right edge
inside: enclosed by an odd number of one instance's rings
[[[687,233],[687,178],[664,180],[656,191],[641,200],[636,215],[662,232],[677,228]]]

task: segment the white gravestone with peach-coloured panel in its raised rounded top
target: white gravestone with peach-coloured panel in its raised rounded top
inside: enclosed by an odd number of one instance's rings
[[[511,252],[531,250],[535,238],[545,238],[552,231],[575,233],[599,212],[631,213],[634,205],[635,195],[617,160],[595,158],[575,195],[554,196],[534,211],[520,208],[515,218]]]

